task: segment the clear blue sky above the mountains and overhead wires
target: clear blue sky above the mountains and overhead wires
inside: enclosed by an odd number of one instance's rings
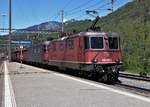
[[[8,1],[0,0],[0,28],[8,28]],[[115,10],[131,0],[116,0]],[[64,9],[65,20],[93,18],[86,10],[98,9],[100,16],[110,11],[111,0],[12,0],[12,27],[19,29],[46,21],[60,21]],[[3,14],[3,15],[2,15]]]

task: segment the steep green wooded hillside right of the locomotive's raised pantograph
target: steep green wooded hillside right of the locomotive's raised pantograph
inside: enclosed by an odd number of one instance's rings
[[[150,72],[150,2],[131,2],[108,15],[104,31],[118,32],[125,67],[130,71]],[[111,25],[111,26],[110,26]]]

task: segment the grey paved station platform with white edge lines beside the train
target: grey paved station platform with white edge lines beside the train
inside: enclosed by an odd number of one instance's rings
[[[16,62],[4,62],[5,85],[0,85],[5,89],[5,100],[1,107],[150,106],[147,97],[114,89],[103,83],[29,65],[22,66],[20,68]]]

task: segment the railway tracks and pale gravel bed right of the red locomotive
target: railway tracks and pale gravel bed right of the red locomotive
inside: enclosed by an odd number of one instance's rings
[[[137,74],[120,73],[120,83],[115,84],[117,88],[150,97],[150,77],[141,77]]]

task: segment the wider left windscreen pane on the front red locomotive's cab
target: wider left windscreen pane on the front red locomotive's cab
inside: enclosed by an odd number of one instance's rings
[[[103,49],[103,37],[91,37],[92,49]]]

